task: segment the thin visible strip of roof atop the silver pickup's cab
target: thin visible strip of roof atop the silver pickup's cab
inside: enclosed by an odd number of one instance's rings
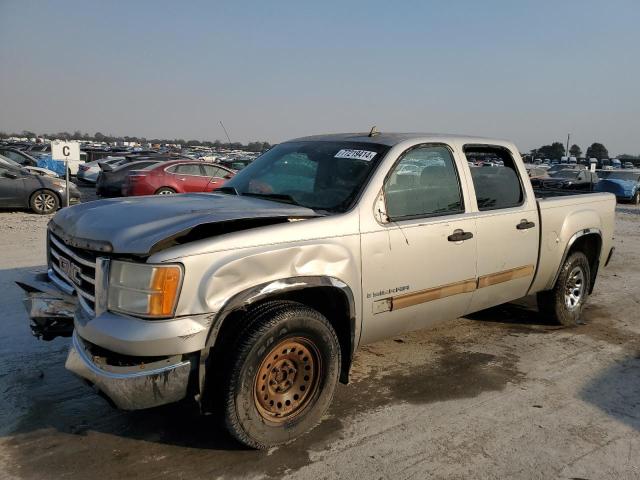
[[[329,133],[325,135],[311,135],[308,137],[299,137],[288,140],[290,142],[362,142],[377,143],[382,145],[394,146],[405,140],[421,140],[424,142],[455,142],[455,143],[471,143],[471,144],[494,144],[494,145],[512,145],[512,142],[485,137],[472,137],[469,135],[454,135],[448,133],[400,133],[400,132],[379,132],[372,137],[368,132],[354,133]]]

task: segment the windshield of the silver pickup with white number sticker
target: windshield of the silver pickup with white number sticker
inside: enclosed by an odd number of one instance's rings
[[[281,143],[226,182],[221,191],[344,212],[388,150],[374,143]]]

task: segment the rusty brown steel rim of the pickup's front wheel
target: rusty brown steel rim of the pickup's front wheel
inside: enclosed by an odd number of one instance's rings
[[[287,338],[264,357],[256,375],[254,400],[260,415],[284,422],[299,415],[318,390],[322,360],[309,339]]]

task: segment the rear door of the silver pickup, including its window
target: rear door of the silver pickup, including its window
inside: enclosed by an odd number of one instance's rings
[[[476,210],[477,289],[470,312],[524,297],[535,273],[540,225],[526,171],[506,147],[465,146],[467,155],[499,156],[504,165],[470,168]]]

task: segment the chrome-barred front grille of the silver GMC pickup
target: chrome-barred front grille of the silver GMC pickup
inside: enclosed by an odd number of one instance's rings
[[[90,250],[71,247],[49,231],[49,268],[70,289],[75,290],[80,305],[93,315],[96,302],[96,259]]]

